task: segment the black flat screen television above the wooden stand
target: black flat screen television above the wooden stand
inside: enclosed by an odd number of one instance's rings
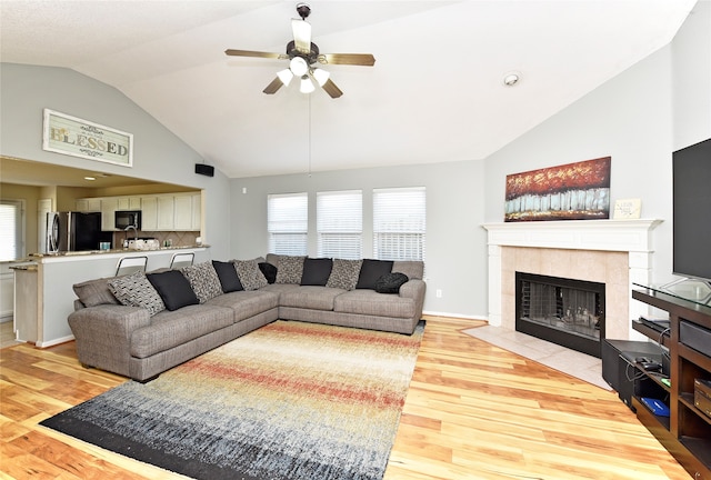
[[[711,139],[678,150],[673,172],[673,273],[711,282]]]

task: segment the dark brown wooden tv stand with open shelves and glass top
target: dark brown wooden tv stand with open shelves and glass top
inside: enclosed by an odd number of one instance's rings
[[[694,379],[711,381],[711,344],[702,353],[680,341],[681,322],[711,332],[711,307],[641,286],[635,286],[632,298],[669,312],[671,329],[670,336],[665,337],[639,321],[632,321],[634,330],[669,348],[671,364],[671,387],[661,382],[659,374],[641,369],[654,384],[644,392],[635,387],[632,406],[637,417],[694,480],[711,480],[711,417],[694,407]],[[642,403],[642,396],[655,396],[668,401],[670,416],[655,416]]]

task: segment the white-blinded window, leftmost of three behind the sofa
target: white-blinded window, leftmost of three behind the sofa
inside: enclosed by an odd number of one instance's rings
[[[304,256],[309,231],[309,198],[303,193],[270,194],[267,198],[269,252]]]

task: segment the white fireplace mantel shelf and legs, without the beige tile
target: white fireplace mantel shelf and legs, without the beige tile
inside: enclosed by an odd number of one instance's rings
[[[661,222],[658,219],[634,219],[484,223],[489,249],[489,323],[501,326],[502,320],[502,248],[628,252],[631,296],[632,283],[651,280],[651,231]],[[639,316],[639,308],[630,302],[630,318]]]

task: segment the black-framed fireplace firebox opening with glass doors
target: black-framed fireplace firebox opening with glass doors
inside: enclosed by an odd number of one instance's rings
[[[600,358],[604,283],[515,272],[515,330]]]

